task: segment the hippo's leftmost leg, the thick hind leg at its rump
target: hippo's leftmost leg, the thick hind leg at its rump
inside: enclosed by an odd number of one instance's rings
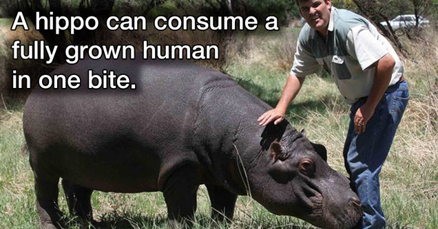
[[[34,173],[36,208],[38,210],[41,228],[60,228],[63,213],[58,206],[59,177],[45,177],[41,173]]]

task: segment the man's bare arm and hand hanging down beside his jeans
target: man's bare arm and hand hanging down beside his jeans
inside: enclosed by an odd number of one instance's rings
[[[355,114],[355,131],[357,134],[365,131],[366,123],[373,117],[375,107],[379,104],[391,80],[395,60],[389,53],[377,61],[373,86],[362,107]]]

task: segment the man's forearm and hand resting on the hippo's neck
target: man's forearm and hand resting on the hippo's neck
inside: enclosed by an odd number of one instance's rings
[[[297,96],[298,91],[301,89],[302,83],[304,83],[304,79],[304,77],[297,77],[293,74],[289,74],[277,106],[274,109],[265,112],[262,114],[262,116],[260,116],[260,118],[258,118],[260,125],[266,126],[269,124],[269,122],[278,124],[284,119],[286,109],[289,106],[289,103],[291,103],[295,96]]]

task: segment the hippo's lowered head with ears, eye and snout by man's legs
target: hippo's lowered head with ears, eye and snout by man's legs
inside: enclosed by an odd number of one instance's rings
[[[289,123],[270,124],[250,176],[253,197],[277,215],[291,215],[321,228],[353,228],[362,217],[348,179],[328,166],[326,149]],[[255,183],[255,184],[254,184]]]

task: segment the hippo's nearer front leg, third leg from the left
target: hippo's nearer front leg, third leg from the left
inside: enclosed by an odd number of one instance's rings
[[[191,226],[196,212],[196,193],[199,184],[189,166],[179,168],[167,179],[163,195],[171,227]]]

